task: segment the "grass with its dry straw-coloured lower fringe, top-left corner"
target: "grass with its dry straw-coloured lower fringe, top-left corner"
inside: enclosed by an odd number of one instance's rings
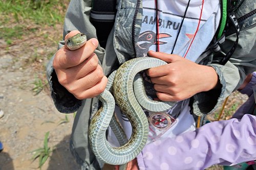
[[[68,0],[3,0],[0,1],[0,39],[8,45],[14,39],[36,34],[38,29],[63,23]],[[45,35],[45,38],[48,35]]]

